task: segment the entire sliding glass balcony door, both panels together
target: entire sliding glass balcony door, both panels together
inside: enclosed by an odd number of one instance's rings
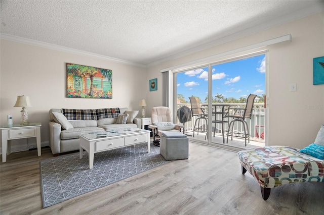
[[[174,73],[176,110],[181,106],[191,108],[189,97],[196,97],[199,101],[198,106],[207,118],[207,121],[201,120],[203,115],[193,114],[191,121],[184,123],[185,133],[197,141],[209,144],[226,144],[229,124],[226,111],[230,106],[244,108],[248,95],[252,93],[257,95],[254,114],[251,119],[246,121],[249,125],[251,139],[264,143],[265,77],[265,53]],[[180,123],[179,120],[178,123]],[[198,123],[199,125],[197,125]],[[242,127],[236,125],[235,130],[241,132]],[[241,139],[238,138],[235,141],[239,142]],[[235,144],[233,143],[233,145]]]

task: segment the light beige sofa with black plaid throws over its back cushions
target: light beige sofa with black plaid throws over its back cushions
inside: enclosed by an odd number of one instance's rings
[[[113,112],[113,113],[112,113]],[[117,124],[118,115],[128,116],[125,124]],[[79,134],[117,128],[137,128],[138,111],[128,108],[112,109],[51,109],[49,111],[49,142],[52,153],[79,149]],[[136,118],[136,119],[135,119]],[[118,121],[118,123],[120,123]]]

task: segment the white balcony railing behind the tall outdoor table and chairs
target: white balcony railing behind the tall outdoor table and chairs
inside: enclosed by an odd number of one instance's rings
[[[201,106],[204,106],[204,105],[207,105],[207,103],[201,103]],[[228,103],[228,105],[231,105],[231,108],[233,108],[233,107],[245,108],[246,103]],[[177,103],[177,111],[182,106],[187,106],[188,108],[191,108],[190,103]],[[251,120],[246,119],[248,126],[249,126],[251,140],[253,140],[253,141],[264,142],[264,131],[265,131],[264,113],[265,113],[264,103],[254,103]],[[212,119],[214,119],[214,117],[215,116],[213,115]],[[216,116],[216,117],[218,119],[218,117],[221,117],[221,115]],[[193,126],[194,126],[194,122],[196,119],[197,119],[196,117],[193,117],[191,119],[191,121],[188,121],[185,123],[185,133],[193,131]],[[231,120],[231,118],[228,118],[228,120]],[[182,123],[180,123],[178,118],[177,118],[177,123],[182,124]],[[200,123],[201,123],[200,124],[201,127],[203,127],[203,128],[207,127],[206,122],[204,122],[204,120],[202,120]],[[230,121],[229,121],[229,123],[230,123]],[[227,123],[224,124],[225,132],[227,132],[228,124]],[[216,124],[216,128],[215,128],[215,125],[213,124],[212,125],[213,132],[214,132],[214,129],[216,129],[216,131],[215,131],[216,135],[220,135],[220,136],[222,135],[221,124]],[[244,130],[242,127],[242,123],[235,123],[234,130],[235,130],[235,132],[243,132]]]

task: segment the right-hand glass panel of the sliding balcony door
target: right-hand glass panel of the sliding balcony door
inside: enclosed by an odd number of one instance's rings
[[[258,55],[235,59],[227,62],[220,62],[211,66],[212,68],[212,103],[213,112],[212,123],[213,136],[212,143],[226,143],[228,125],[231,118],[227,118],[228,108],[245,108],[249,94],[255,94],[257,97],[254,102],[254,112],[251,119],[245,121],[248,124],[248,132],[251,140],[264,142],[264,97],[265,86],[265,59],[266,55]],[[220,113],[226,112],[225,115]],[[222,117],[225,117],[222,119]],[[216,123],[217,122],[217,123]],[[244,127],[242,123],[235,123],[233,130],[236,133],[243,134]],[[238,135],[243,136],[243,135]],[[238,142],[241,139],[236,139]],[[231,141],[233,142],[233,141]],[[234,143],[241,145],[241,143]],[[244,146],[244,145],[242,145]]]

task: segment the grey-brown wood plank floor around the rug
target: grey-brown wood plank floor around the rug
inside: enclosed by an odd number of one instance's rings
[[[324,214],[324,183],[293,183],[271,189],[242,175],[235,152],[189,144],[189,159],[43,208],[39,161],[50,148],[16,152],[1,163],[1,214]],[[63,155],[66,156],[66,155]]]

